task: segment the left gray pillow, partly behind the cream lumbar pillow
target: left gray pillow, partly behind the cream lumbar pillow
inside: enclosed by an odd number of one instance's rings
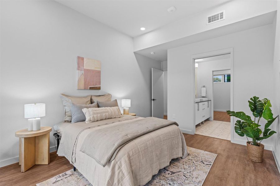
[[[83,108],[98,108],[98,106],[97,106],[97,103],[88,104],[88,105],[73,103],[71,106],[71,112],[72,112],[72,122],[71,123],[86,121],[86,116],[82,111]]]

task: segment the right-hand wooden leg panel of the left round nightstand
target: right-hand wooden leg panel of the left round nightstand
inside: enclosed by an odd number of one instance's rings
[[[35,136],[35,164],[49,164],[49,133]]]

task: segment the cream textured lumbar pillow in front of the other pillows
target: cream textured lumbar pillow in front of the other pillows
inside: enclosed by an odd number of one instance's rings
[[[83,108],[82,111],[86,116],[86,123],[123,117],[119,107]]]

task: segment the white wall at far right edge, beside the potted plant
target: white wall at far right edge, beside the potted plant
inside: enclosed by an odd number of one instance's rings
[[[272,111],[274,117],[280,115],[280,2],[277,2],[277,16],[275,17],[274,23],[274,57],[273,57],[273,93],[274,97],[272,101]],[[274,145],[273,151],[275,159],[278,162],[278,170],[280,171],[280,119],[274,121],[271,129],[277,133],[272,136]]]

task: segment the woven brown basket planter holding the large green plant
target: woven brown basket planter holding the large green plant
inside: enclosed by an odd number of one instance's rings
[[[248,158],[253,162],[263,162],[264,145],[254,146],[250,144],[251,141],[247,141]]]

